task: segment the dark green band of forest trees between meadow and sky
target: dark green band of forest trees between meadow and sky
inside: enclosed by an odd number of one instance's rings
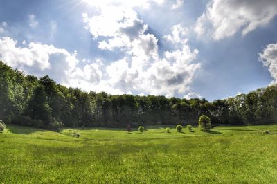
[[[212,125],[277,123],[277,85],[213,102],[110,95],[67,88],[47,75],[25,75],[0,62],[0,120],[6,124],[45,129],[196,125],[202,115],[210,117]]]

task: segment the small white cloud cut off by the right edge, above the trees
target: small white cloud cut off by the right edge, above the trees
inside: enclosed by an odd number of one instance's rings
[[[271,76],[274,78],[272,83],[277,83],[277,43],[267,45],[260,53],[260,61],[267,66]]]

